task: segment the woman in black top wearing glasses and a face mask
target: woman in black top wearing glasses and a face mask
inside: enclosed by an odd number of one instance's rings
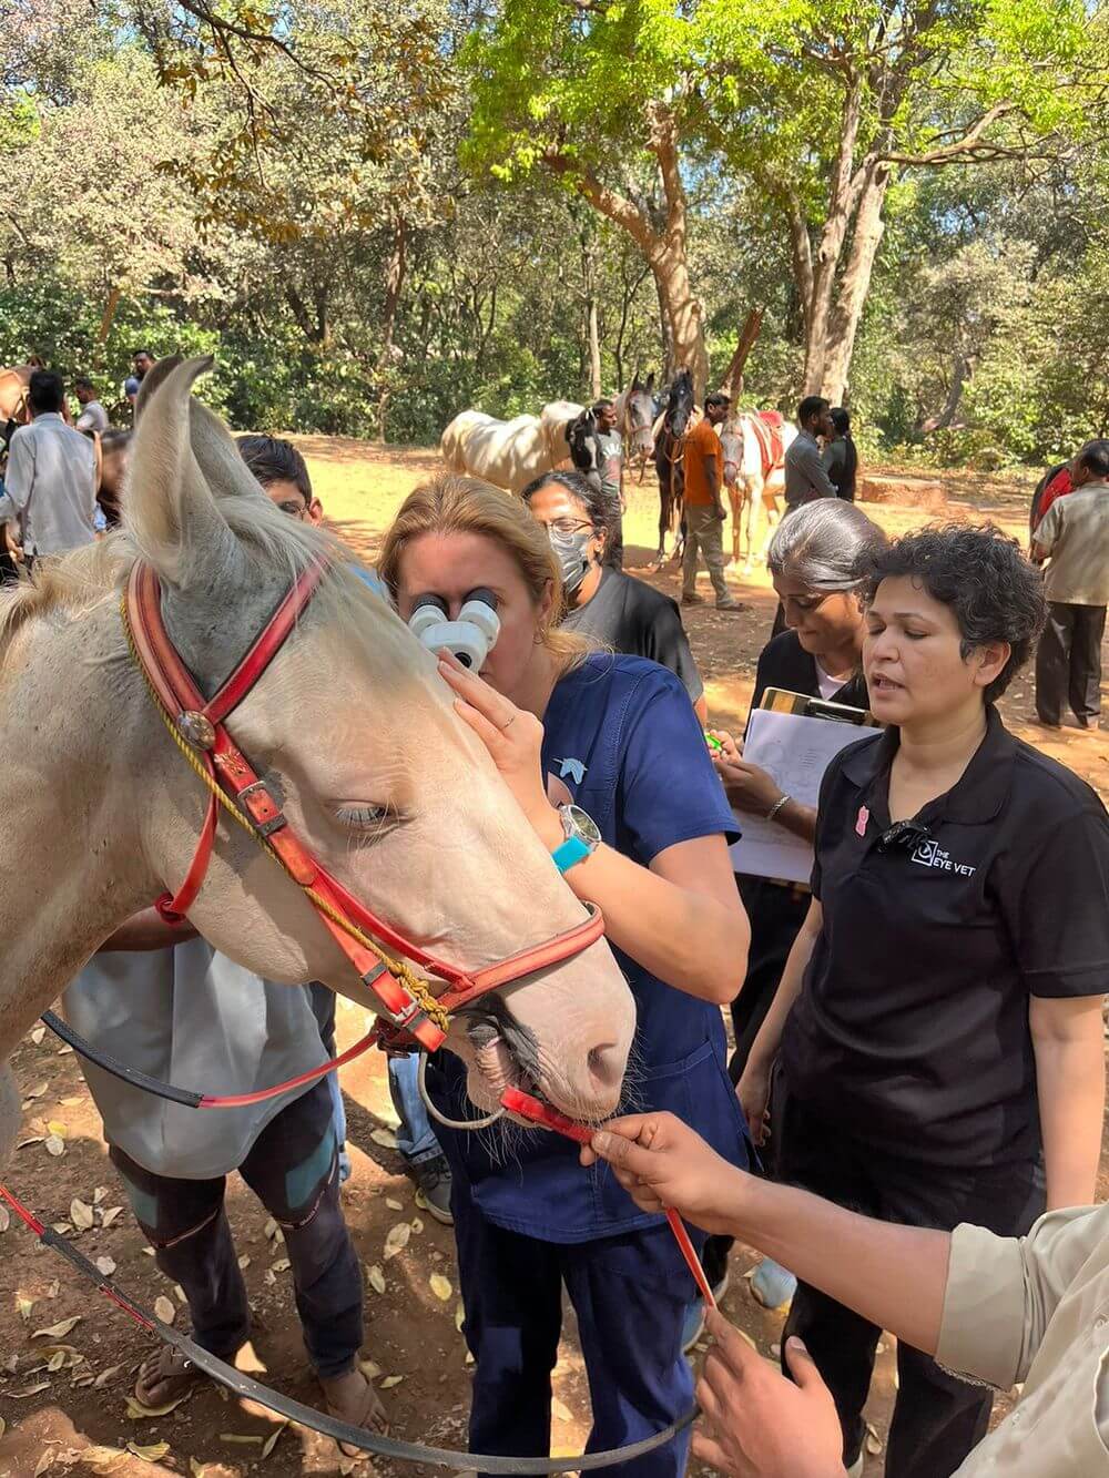
[[[705,687],[677,602],[603,563],[618,513],[611,497],[577,471],[544,471],[520,497],[547,531],[562,568],[563,630],[668,667],[682,680],[696,717],[707,723]]]

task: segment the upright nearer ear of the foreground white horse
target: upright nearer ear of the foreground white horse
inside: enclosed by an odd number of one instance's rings
[[[231,559],[237,541],[194,452],[192,384],[211,359],[177,359],[163,370],[164,364],[149,371],[139,392],[123,517],[158,575],[186,585],[200,568]]]

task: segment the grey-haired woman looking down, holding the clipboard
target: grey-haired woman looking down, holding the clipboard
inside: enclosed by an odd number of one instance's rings
[[[859,667],[865,633],[859,563],[884,544],[886,535],[877,523],[853,503],[838,498],[801,504],[782,519],[770,541],[767,563],[785,612],[785,631],[772,637],[759,656],[753,709],[759,708],[767,687],[866,708],[866,684]],[[730,735],[717,730],[714,738],[723,745],[723,752],[716,754],[716,769],[732,806],[751,816],[773,813],[778,825],[812,841],[815,807],[791,797],[784,800],[773,776],[748,764]],[[810,894],[798,882],[741,873],[735,881],[751,921],[747,980],[732,1002],[735,1052],[729,1072],[732,1080],[739,1082],[809,912]],[[770,1159],[772,1147],[767,1147],[763,1160]],[[714,1286],[725,1281],[729,1247],[729,1239],[708,1239],[704,1261]],[[793,1274],[769,1259],[751,1280],[756,1298],[770,1308],[788,1302],[793,1287]],[[699,1332],[698,1308],[691,1312],[685,1333],[692,1344]]]

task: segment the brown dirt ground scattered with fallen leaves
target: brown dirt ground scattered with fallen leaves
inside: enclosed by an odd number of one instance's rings
[[[364,557],[373,559],[399,500],[433,471],[433,452],[381,448],[330,437],[299,437],[328,519]],[[1000,479],[946,477],[951,517],[991,517],[1023,534],[1028,489]],[[874,511],[890,531],[927,522],[911,508]],[[673,565],[651,568],[657,529],[657,491],[651,480],[631,489],[625,520],[627,568],[677,596]],[[704,578],[704,576],[702,576]],[[764,571],[729,572],[736,597],[748,605],[738,616],[711,605],[686,612],[693,653],[701,664],[716,724],[738,727],[745,715],[757,653],[770,631],[775,599]],[[1019,680],[1003,702],[1005,720],[1029,742],[1069,764],[1102,794],[1109,792],[1109,746],[1099,732],[1065,729],[1045,736],[1032,723],[1031,677]],[[340,1045],[364,1030],[365,1017],[339,1002]],[[77,1058],[35,1029],[15,1055],[22,1088],[22,1147],[10,1171],[13,1190],[49,1224],[55,1224],[90,1259],[108,1258],[114,1277],[146,1307],[169,1299],[177,1327],[188,1327],[173,1286],[161,1277],[126,1206],[106,1160],[101,1122],[78,1072]],[[343,1199],[359,1258],[367,1271],[383,1270],[384,1292],[365,1283],[367,1339],[364,1357],[377,1366],[393,1432],[445,1447],[464,1447],[469,1404],[466,1348],[455,1327],[458,1312],[454,1249],[448,1230],[414,1203],[413,1187],[395,1150],[396,1123],[377,1054],[343,1073],[353,1175]],[[203,1085],[197,1085],[203,1086]],[[50,1154],[52,1150],[61,1153]],[[1103,1156],[1102,1194],[1109,1188]],[[78,1205],[80,1203],[80,1205]],[[266,1213],[237,1179],[228,1191],[235,1239],[254,1311],[253,1369],[262,1380],[311,1404],[318,1392],[299,1336],[284,1249],[266,1236]],[[83,1222],[92,1221],[81,1230]],[[390,1228],[407,1221],[407,1247],[386,1259]],[[151,1474],[204,1474],[206,1478],[291,1478],[296,1474],[350,1472],[334,1445],[299,1428],[279,1429],[265,1411],[247,1410],[216,1388],[197,1391],[185,1404],[158,1417],[130,1416],[127,1398],[135,1370],[152,1348],[138,1327],[101,1299],[55,1253],[40,1247],[15,1218],[4,1228],[0,1210],[0,1478],[59,1478],[67,1472],[111,1472],[118,1478]],[[725,1311],[767,1357],[778,1354],[781,1317],[762,1310],[744,1273],[754,1264],[738,1247],[732,1261]],[[438,1292],[432,1287],[436,1277]],[[450,1283],[444,1295],[442,1278]],[[65,1332],[55,1324],[77,1323]],[[35,1332],[43,1332],[35,1338]],[[880,1346],[869,1417],[878,1445],[893,1395],[893,1342]],[[699,1355],[698,1355],[699,1358]],[[53,1366],[55,1369],[50,1369]],[[398,1380],[399,1377],[399,1380]],[[589,1431],[589,1394],[568,1315],[568,1338],[556,1376],[554,1450],[574,1453]],[[271,1445],[271,1438],[277,1441]],[[129,1444],[132,1450],[129,1450]],[[164,1444],[164,1447],[163,1447]],[[139,1448],[135,1451],[133,1448]],[[383,1478],[399,1465],[376,1463]],[[356,1463],[371,1472],[368,1459]],[[866,1472],[881,1471],[881,1457]]]

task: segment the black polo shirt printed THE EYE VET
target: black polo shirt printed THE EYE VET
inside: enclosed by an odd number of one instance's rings
[[[846,1135],[952,1169],[1041,1147],[1031,996],[1109,984],[1109,817],[995,708],[966,773],[880,850],[898,730],[832,760],[812,887],[824,931],[782,1066]]]

